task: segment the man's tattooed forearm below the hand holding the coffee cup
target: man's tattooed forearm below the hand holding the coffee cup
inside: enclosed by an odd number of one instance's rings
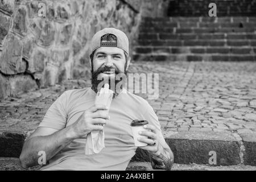
[[[151,165],[154,169],[165,169],[170,171],[174,163],[174,154],[170,148],[164,148],[159,144],[157,154],[151,155]]]

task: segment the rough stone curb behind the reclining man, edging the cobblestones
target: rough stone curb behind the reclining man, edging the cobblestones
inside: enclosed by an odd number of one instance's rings
[[[0,157],[19,158],[25,138],[24,134],[0,133]],[[240,158],[240,141],[232,133],[180,131],[170,134],[169,131],[164,138],[174,152],[174,163],[177,164],[209,164],[210,161],[213,166],[242,163],[256,166],[256,133],[241,134],[245,146],[243,159]],[[150,156],[138,148],[131,162],[150,162]]]

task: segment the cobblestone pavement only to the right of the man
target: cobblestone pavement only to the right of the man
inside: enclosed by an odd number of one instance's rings
[[[167,64],[150,101],[164,130],[256,131],[255,63]]]

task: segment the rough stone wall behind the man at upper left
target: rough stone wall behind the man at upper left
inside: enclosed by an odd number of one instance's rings
[[[104,27],[126,32],[131,49],[141,20],[133,7],[121,0],[0,1],[0,99],[90,75],[90,40]]]

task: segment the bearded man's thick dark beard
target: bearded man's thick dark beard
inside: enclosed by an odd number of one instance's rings
[[[101,77],[100,73],[104,72],[115,72],[114,77]],[[115,69],[113,67],[100,67],[96,71],[93,72],[92,69],[92,89],[94,92],[100,91],[101,88],[104,87],[105,84],[109,84],[109,89],[114,91],[113,98],[118,96],[119,93],[122,92],[123,84],[125,84],[127,76],[127,71],[122,72],[119,69]]]

